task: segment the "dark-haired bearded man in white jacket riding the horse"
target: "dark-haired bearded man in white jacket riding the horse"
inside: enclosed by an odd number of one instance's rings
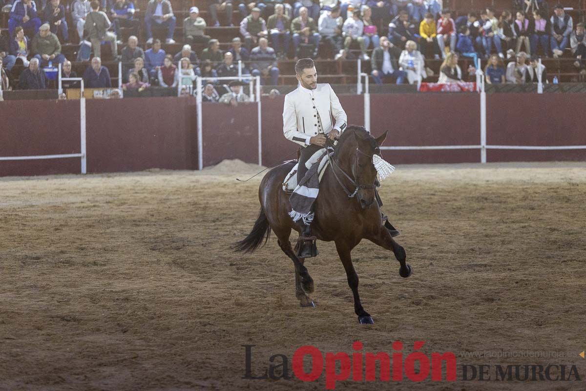
[[[347,117],[336,93],[328,83],[318,84],[318,73],[314,60],[301,59],[295,64],[295,76],[299,87],[285,96],[283,107],[283,133],[287,140],[301,145],[297,168],[297,183],[308,171],[305,163],[315,152],[325,148],[326,141],[335,141],[347,126]],[[335,122],[334,122],[335,121]],[[379,206],[382,205],[376,193]],[[316,237],[311,235],[311,222],[314,214],[294,218],[301,228],[298,239],[298,257],[315,257]],[[387,216],[381,215],[384,226],[391,237],[399,232],[389,223]]]

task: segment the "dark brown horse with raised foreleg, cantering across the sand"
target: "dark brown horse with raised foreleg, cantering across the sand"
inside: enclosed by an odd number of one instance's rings
[[[388,131],[387,131],[388,132]],[[400,263],[401,277],[411,275],[411,266],[405,263],[406,253],[383,226],[379,203],[374,202],[376,169],[372,157],[380,155],[380,145],[387,136],[372,137],[364,128],[350,125],[340,135],[331,164],[326,168],[319,183],[319,195],[314,203],[315,218],[312,233],[325,242],[335,242],[336,250],[346,270],[348,285],[354,295],[354,309],[362,324],[373,324],[372,317],[364,311],[358,295],[358,275],[352,265],[350,252],[367,239],[392,250]],[[328,158],[327,156],[324,158]],[[295,296],[302,307],[315,307],[308,293],[314,291],[314,280],[304,265],[304,258],[295,256],[289,243],[291,230],[299,232],[299,226],[289,217],[289,194],[282,189],[285,176],[295,161],[275,166],[263,178],[258,188],[260,214],[248,236],[234,244],[236,251],[251,252],[268,241],[272,231],[277,235],[281,250],[295,265]]]

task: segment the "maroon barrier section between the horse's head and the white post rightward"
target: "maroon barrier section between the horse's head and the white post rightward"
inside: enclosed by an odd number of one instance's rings
[[[389,130],[383,146],[479,145],[480,96],[472,93],[372,94],[370,128]],[[383,151],[391,164],[479,162],[480,149]]]

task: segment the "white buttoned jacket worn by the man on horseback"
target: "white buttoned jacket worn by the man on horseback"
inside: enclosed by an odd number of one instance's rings
[[[328,134],[336,129],[341,133],[347,125],[346,113],[329,84],[318,84],[313,92],[313,100],[311,91],[301,86],[285,95],[283,133],[302,147],[309,145],[309,139],[318,132]]]

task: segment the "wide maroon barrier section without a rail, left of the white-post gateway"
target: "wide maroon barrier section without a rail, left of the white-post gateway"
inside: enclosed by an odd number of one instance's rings
[[[191,102],[177,97],[87,100],[88,172],[194,168]]]

